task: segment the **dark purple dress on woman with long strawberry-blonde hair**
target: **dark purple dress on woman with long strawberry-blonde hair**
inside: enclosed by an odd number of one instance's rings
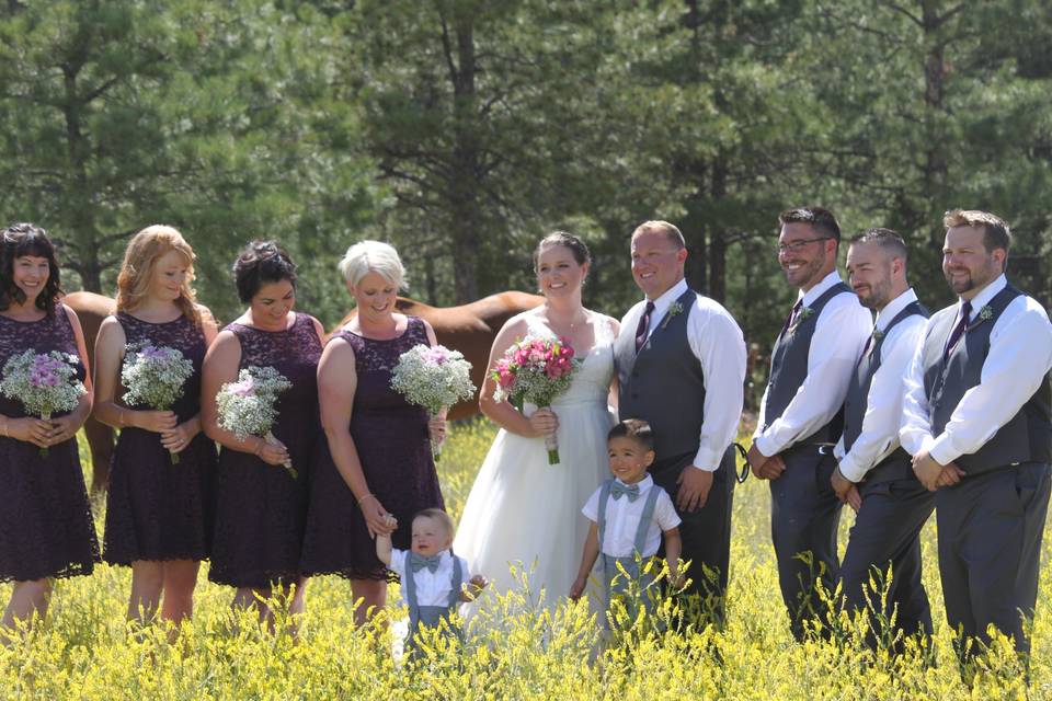
[[[150,323],[119,312],[117,321],[128,343],[147,341],[175,348],[194,364],[194,374],[172,411],[179,423],[196,416],[201,412],[201,364],[205,359],[201,327],[186,317]],[[119,388],[118,399],[125,389]],[[179,463],[172,464],[160,434],[122,429],[110,467],[103,560],[129,565],[136,560],[206,559],[210,551],[215,470],[216,444],[204,433],[197,434],[179,453]]]

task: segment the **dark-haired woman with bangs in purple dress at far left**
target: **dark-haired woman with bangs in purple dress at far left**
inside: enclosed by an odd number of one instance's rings
[[[0,368],[32,348],[77,358],[88,388],[68,414],[26,416],[0,394],[0,582],[14,582],[0,633],[44,618],[52,578],[89,575],[99,560],[76,434],[91,413],[84,335],[59,301],[58,263],[47,233],[32,223],[4,229],[0,253]],[[46,457],[41,448],[48,448]],[[2,637],[2,635],[0,635]]]

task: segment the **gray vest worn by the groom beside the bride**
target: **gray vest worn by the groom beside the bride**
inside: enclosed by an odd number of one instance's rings
[[[687,318],[697,296],[688,289],[676,301],[683,313],[670,317],[666,312],[639,355],[636,326],[642,306],[625,319],[614,344],[620,381],[618,414],[650,424],[660,460],[697,452],[705,421],[705,374],[687,341]]]

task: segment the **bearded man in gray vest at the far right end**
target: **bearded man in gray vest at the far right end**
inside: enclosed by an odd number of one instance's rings
[[[942,222],[942,273],[959,301],[925,326],[899,435],[936,492],[947,620],[984,643],[993,624],[1027,654],[1049,507],[1052,324],[1005,279],[1007,223],[960,209]]]

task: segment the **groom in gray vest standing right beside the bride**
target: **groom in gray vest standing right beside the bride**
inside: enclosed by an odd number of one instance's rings
[[[645,299],[621,320],[614,347],[618,414],[650,423],[658,453],[650,472],[683,519],[688,594],[699,594],[722,621],[745,342],[723,307],[687,287],[679,229],[641,223],[631,251],[632,277]]]

